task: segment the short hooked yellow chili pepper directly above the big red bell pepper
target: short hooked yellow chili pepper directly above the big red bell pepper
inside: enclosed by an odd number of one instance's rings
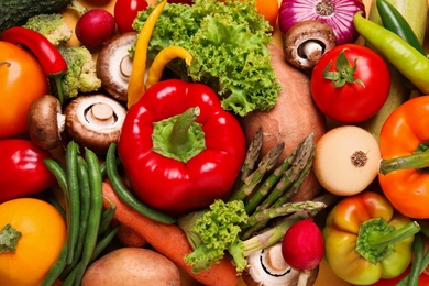
[[[160,81],[164,67],[176,57],[185,59],[188,66],[190,66],[190,63],[193,62],[193,55],[182,46],[167,46],[163,48],[155,56],[155,59],[148,69],[146,89]]]

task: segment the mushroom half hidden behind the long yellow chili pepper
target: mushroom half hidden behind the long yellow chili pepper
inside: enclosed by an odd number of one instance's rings
[[[128,82],[132,69],[129,50],[136,41],[138,34],[121,34],[101,48],[97,58],[97,75],[103,89],[113,98],[127,101]]]

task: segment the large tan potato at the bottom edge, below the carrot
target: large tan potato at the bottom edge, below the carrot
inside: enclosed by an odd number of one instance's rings
[[[176,264],[158,252],[122,248],[95,261],[86,271],[82,286],[180,285]]]

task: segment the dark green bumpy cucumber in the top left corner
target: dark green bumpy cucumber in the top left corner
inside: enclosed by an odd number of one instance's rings
[[[72,0],[0,0],[0,33],[25,24],[30,16],[61,12]]]

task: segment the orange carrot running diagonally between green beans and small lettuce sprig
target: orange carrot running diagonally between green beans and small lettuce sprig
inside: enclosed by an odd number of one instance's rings
[[[109,182],[102,184],[103,196],[117,205],[114,218],[119,223],[128,226],[144,238],[157,252],[167,256],[179,267],[187,272],[194,279],[208,286],[234,286],[239,282],[235,266],[231,261],[223,258],[220,263],[211,265],[209,270],[194,273],[193,267],[184,260],[185,255],[193,252],[185,232],[176,224],[165,224],[140,215],[122,202]],[[108,201],[105,199],[106,204]]]

